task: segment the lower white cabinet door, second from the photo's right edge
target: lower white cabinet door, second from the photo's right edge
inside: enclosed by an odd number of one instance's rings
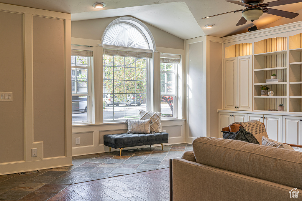
[[[282,142],[282,116],[264,115],[264,125],[268,138]]]

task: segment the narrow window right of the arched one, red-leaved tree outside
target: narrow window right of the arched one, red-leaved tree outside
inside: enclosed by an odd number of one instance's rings
[[[168,57],[168,58],[166,58]],[[172,58],[169,58],[172,57]],[[162,117],[175,117],[177,98],[177,69],[180,63],[178,55],[161,55],[160,63],[160,111]]]

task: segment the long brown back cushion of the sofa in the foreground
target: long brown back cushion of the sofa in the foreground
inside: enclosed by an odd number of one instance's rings
[[[302,153],[238,140],[198,137],[196,162],[302,189]]]

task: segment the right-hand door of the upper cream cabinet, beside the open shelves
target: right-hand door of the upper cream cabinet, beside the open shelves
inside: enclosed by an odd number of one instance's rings
[[[238,57],[238,97],[239,110],[252,111],[252,56]]]

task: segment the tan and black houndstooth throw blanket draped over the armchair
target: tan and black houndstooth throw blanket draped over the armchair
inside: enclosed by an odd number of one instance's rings
[[[265,126],[260,121],[252,120],[247,122],[235,122],[233,124],[240,124],[246,131],[252,133],[259,144],[262,144],[263,136],[268,138]]]

